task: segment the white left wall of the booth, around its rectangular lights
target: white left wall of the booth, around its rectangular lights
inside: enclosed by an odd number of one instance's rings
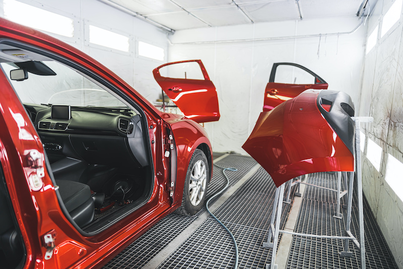
[[[0,0],[2,17],[5,1]],[[19,0],[19,2],[73,19],[73,37],[46,33],[84,51],[124,79],[150,102],[154,103],[160,98],[161,87],[155,81],[152,71],[166,62],[168,49],[166,31],[97,0]],[[120,51],[89,42],[90,25],[127,36],[129,51]],[[139,41],[163,48],[164,61],[139,56]]]

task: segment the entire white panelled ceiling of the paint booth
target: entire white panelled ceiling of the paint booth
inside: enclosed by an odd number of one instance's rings
[[[100,0],[167,30],[347,17],[366,0]]]

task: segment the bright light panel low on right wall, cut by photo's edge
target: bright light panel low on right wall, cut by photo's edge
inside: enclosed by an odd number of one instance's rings
[[[403,201],[403,180],[401,180],[403,164],[390,154],[387,154],[385,181],[396,195]]]

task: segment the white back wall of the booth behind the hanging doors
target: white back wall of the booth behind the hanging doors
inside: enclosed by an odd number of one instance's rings
[[[235,151],[251,133],[263,107],[263,95],[273,63],[297,63],[312,70],[329,89],[345,91],[355,105],[364,57],[366,28],[357,17],[255,23],[176,31],[170,35],[168,61],[201,59],[217,88],[221,118],[206,123],[214,151]],[[215,42],[318,34],[312,38]],[[321,34],[321,36],[319,36]],[[197,44],[195,42],[212,41]]]

